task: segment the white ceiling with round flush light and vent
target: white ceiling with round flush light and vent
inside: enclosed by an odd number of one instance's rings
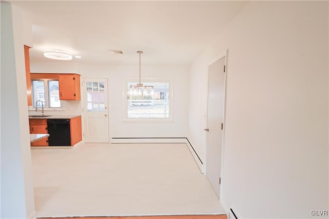
[[[12,1],[33,24],[31,62],[188,65],[246,1]],[[62,49],[81,59],[53,61]],[[122,50],[111,54],[107,50]]]

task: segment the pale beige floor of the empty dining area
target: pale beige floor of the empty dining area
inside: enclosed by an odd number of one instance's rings
[[[38,217],[225,214],[186,144],[31,151]]]

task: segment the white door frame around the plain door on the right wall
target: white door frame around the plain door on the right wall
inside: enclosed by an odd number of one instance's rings
[[[219,61],[220,59],[225,57],[225,74],[224,74],[224,113],[223,113],[223,132],[222,132],[222,154],[221,154],[221,185],[220,185],[220,200],[222,200],[222,187],[223,187],[223,178],[224,178],[224,149],[225,149],[225,124],[226,124],[226,88],[227,88],[227,58],[228,58],[228,49],[225,50],[225,52],[221,53],[220,55],[216,56],[214,59],[212,59],[211,62],[208,63],[207,67],[207,91],[206,91],[206,121],[205,121],[205,127],[208,127],[208,88],[209,88],[209,67],[214,64],[215,62]],[[205,132],[205,145],[206,145],[206,154],[207,154],[207,132]],[[206,160],[207,162],[207,160]],[[207,165],[205,165],[206,174],[207,174]]]

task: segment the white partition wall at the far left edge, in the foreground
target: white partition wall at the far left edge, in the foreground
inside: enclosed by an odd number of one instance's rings
[[[1,218],[35,217],[24,61],[32,30],[23,24],[1,3]]]

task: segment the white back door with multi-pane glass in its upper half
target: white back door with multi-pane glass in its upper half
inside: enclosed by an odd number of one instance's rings
[[[108,143],[107,79],[83,79],[84,142]]]

